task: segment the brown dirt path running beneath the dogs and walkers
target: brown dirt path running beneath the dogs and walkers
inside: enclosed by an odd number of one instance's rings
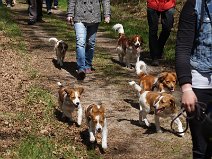
[[[27,42],[28,51],[30,52],[31,67],[39,71],[39,84],[50,90],[57,96],[56,82],[60,81],[71,85],[80,85],[85,89],[82,98],[82,104],[88,105],[101,101],[106,105],[108,119],[108,150],[101,154],[97,149],[97,153],[103,158],[117,159],[185,159],[191,156],[190,135],[186,133],[183,138],[175,136],[170,130],[170,120],[161,120],[161,126],[164,133],[156,133],[152,124],[150,128],[141,127],[138,123],[138,104],[136,93],[127,84],[129,80],[136,80],[135,73],[123,68],[124,78],[101,78],[101,72],[97,71],[88,75],[84,82],[76,80],[74,51],[70,51],[66,57],[64,68],[58,69],[54,65],[53,57],[55,52],[52,45],[48,42],[48,38],[52,37],[42,26],[49,25],[48,20],[45,23],[36,24],[34,26],[27,25],[27,5],[17,4],[12,8],[16,15],[15,20],[20,25],[25,40]],[[61,12],[54,11],[54,14],[61,16]],[[65,15],[64,15],[65,17]],[[52,28],[50,28],[52,29]],[[101,29],[102,30],[102,29]],[[98,32],[97,47],[108,50],[108,54],[116,59],[115,41],[104,37],[104,31]],[[109,64],[117,65],[113,60]],[[166,69],[164,67],[152,68],[152,70],[160,71]],[[179,92],[175,93],[179,96]],[[149,116],[150,121],[153,118]],[[57,120],[55,118],[55,120]],[[62,123],[66,124],[66,123]],[[54,130],[57,131],[57,130]],[[76,128],[76,134],[81,140],[76,143],[89,147],[87,142],[87,133],[85,120],[83,126]]]

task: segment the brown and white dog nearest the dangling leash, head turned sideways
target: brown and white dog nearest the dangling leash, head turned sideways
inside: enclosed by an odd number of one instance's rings
[[[171,119],[174,119],[177,116],[177,106],[174,96],[168,93],[142,90],[141,86],[134,81],[129,82],[129,84],[134,86],[135,90],[139,93],[139,123],[142,125],[144,122],[149,127],[147,114],[154,112],[156,131],[162,132],[159,117],[171,117]],[[174,122],[178,126],[178,131],[182,132],[183,127],[180,119],[177,118]],[[180,135],[183,136],[184,134],[182,133]]]

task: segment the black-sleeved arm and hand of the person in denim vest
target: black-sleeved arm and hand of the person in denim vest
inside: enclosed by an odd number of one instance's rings
[[[190,56],[195,39],[195,0],[188,0],[180,14],[176,41],[176,73],[183,92],[182,103],[188,112],[194,111],[197,98],[192,91]]]

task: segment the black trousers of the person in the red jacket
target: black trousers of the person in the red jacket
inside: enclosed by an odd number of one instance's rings
[[[160,59],[163,55],[164,45],[170,35],[174,23],[175,8],[159,12],[147,8],[147,20],[149,25],[149,49],[152,59]],[[161,18],[162,31],[158,37],[158,25]]]

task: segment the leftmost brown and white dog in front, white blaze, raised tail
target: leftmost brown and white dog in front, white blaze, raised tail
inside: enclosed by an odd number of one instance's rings
[[[63,117],[68,117],[71,121],[72,113],[77,109],[77,124],[80,126],[82,123],[82,105],[80,102],[80,96],[83,93],[84,89],[82,87],[71,88],[69,86],[63,86],[60,82],[57,82],[59,85],[58,90],[58,103],[62,110]]]

